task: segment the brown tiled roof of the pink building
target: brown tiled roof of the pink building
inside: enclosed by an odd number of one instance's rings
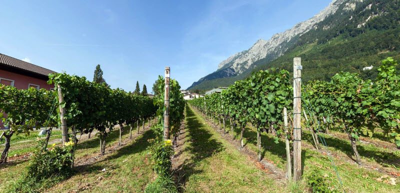
[[[55,71],[0,53],[0,63],[47,76]]]

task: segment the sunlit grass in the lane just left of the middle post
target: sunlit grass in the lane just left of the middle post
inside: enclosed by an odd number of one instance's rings
[[[154,136],[152,131],[146,130],[138,138],[123,145],[123,147],[111,153],[105,159],[96,161],[93,164],[75,167],[74,170],[76,172],[72,177],[46,191],[142,192],[145,185],[152,180],[154,175],[148,151],[146,150],[149,145],[147,139]],[[123,138],[127,137],[129,137],[129,134],[128,131],[125,131]],[[117,143],[117,139],[118,137],[115,137],[109,142]],[[77,152],[77,156],[84,155],[86,151],[90,152],[92,148],[95,147],[89,147],[86,150],[80,149],[81,151]],[[95,150],[98,152],[97,148]],[[106,171],[102,172],[101,169],[103,168]]]

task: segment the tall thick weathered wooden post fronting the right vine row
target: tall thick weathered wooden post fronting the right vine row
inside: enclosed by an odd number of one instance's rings
[[[301,178],[301,58],[293,58],[293,179]]]

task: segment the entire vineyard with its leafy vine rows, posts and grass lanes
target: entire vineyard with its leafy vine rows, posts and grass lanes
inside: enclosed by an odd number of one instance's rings
[[[187,102],[169,67],[153,97],[67,73],[1,85],[0,190],[398,192],[397,61],[308,82],[294,64]]]

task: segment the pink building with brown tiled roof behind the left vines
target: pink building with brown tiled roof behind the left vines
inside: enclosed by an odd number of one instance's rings
[[[35,87],[49,90],[54,88],[54,84],[47,84],[48,74],[54,72],[0,53],[0,84],[15,86],[18,89]],[[3,127],[1,121],[0,127]]]

